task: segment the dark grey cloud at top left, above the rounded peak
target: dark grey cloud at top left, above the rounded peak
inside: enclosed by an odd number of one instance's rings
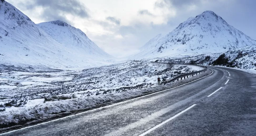
[[[67,14],[88,18],[86,7],[78,0],[35,0],[20,3],[26,10],[35,10],[42,8],[40,17],[47,21],[63,20],[69,22],[66,18]]]

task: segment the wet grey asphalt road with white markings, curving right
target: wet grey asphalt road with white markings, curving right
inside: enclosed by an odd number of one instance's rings
[[[256,135],[256,76],[229,68],[192,83],[5,136]]]

